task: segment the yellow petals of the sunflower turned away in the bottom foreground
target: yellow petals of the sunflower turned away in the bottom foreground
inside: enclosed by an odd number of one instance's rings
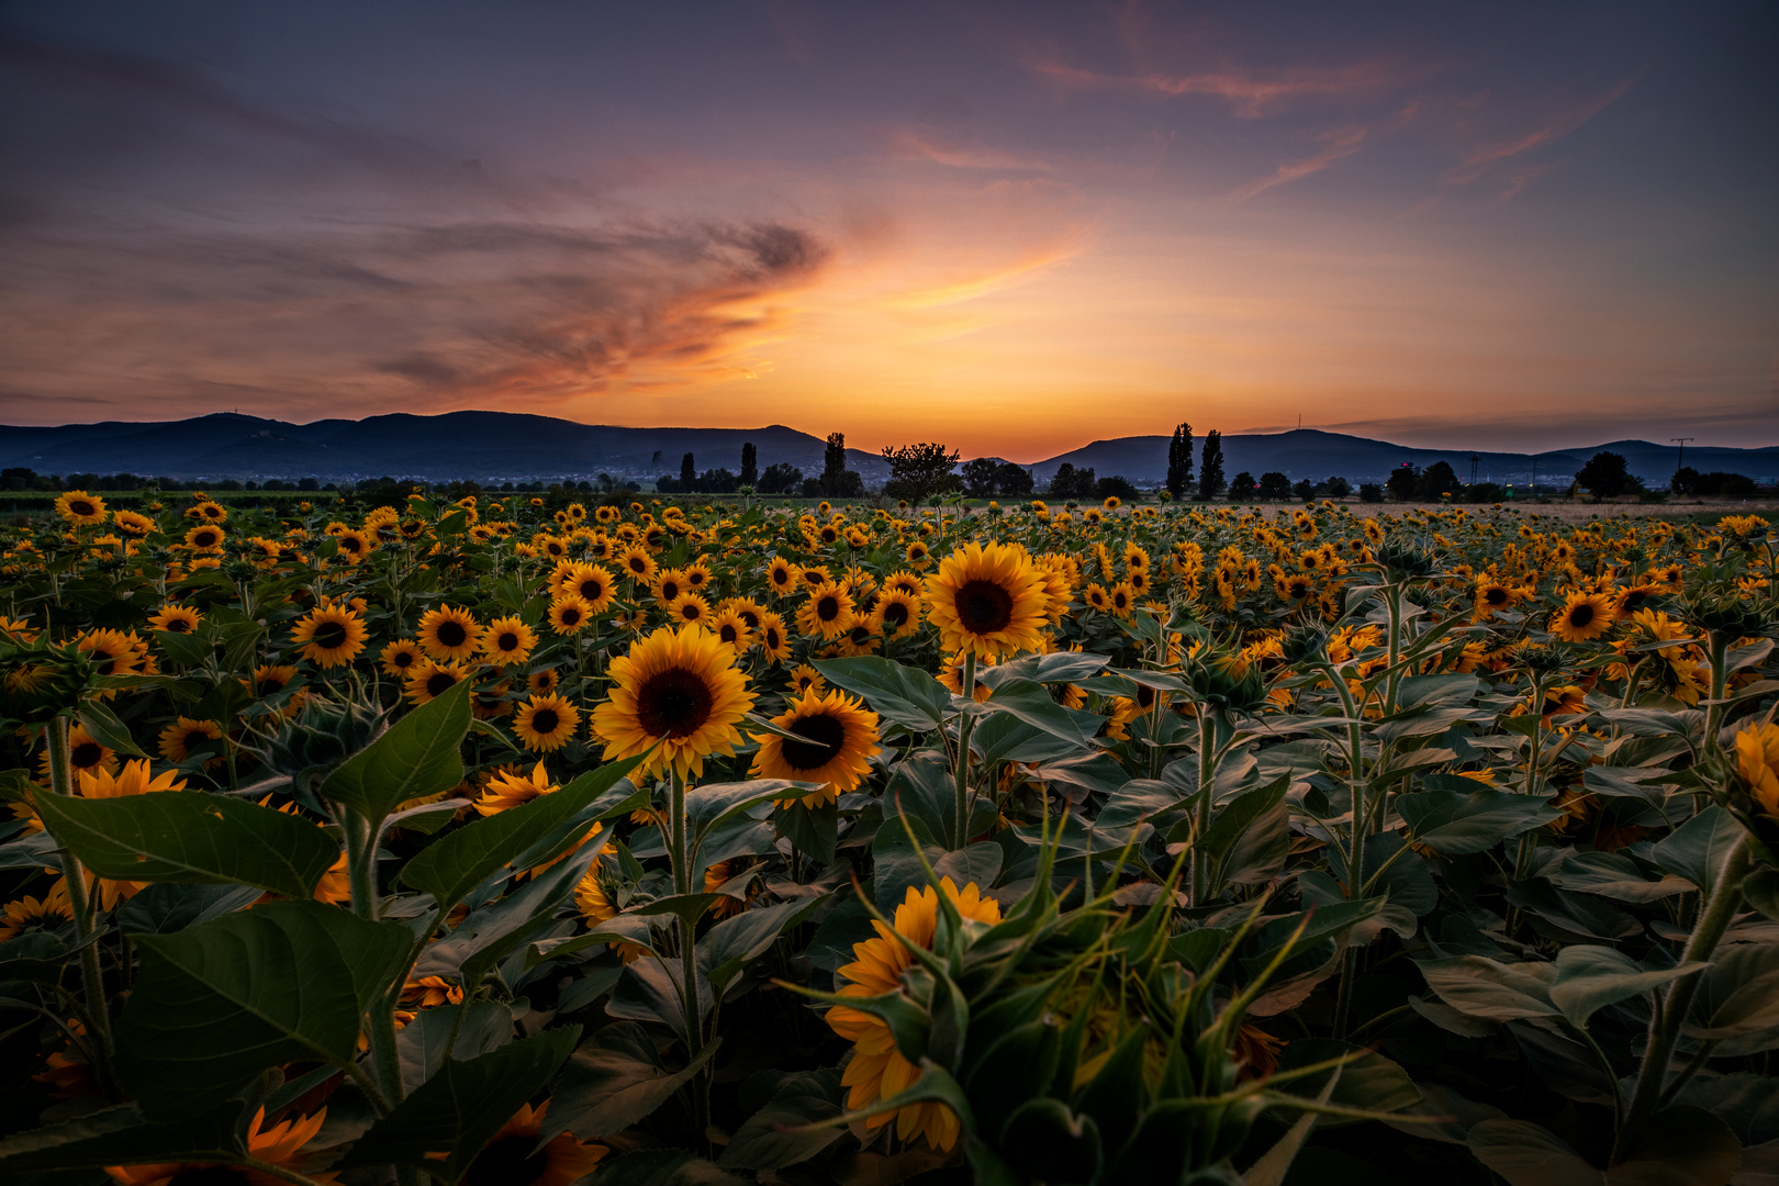
[[[1000,903],[984,898],[975,882],[962,891],[945,878],[939,882],[943,893],[961,916],[977,923],[994,925],[1000,921]],[[932,885],[914,889],[909,885],[902,905],[895,909],[895,925],[884,926],[872,921],[875,939],[852,944],[852,964],[843,966],[836,976],[845,980],[840,996],[882,996],[902,990],[902,973],[914,966],[909,944],[932,948],[934,932],[939,926],[939,894]],[[847,1108],[863,1110],[879,1099],[897,1095],[920,1078],[920,1069],[911,1063],[895,1046],[890,1026],[872,1014],[836,1005],[827,1010],[827,1024],[843,1038],[852,1040],[852,1062],[847,1063],[840,1083],[849,1090]],[[891,1113],[879,1113],[865,1120],[866,1129],[882,1127]],[[945,1104],[909,1104],[895,1110],[897,1134],[902,1140],[927,1138],[927,1143],[939,1150],[948,1150],[957,1143],[957,1115]]]

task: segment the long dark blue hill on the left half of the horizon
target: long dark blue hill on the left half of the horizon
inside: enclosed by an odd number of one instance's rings
[[[822,471],[822,437],[765,429],[619,429],[519,413],[368,416],[297,425],[237,413],[160,423],[0,427],[0,466],[37,473],[141,473],[169,478],[591,478],[678,475],[692,453],[704,469],[740,473],[742,445],[761,469],[790,462]],[[890,469],[877,453],[847,450],[866,482]]]

